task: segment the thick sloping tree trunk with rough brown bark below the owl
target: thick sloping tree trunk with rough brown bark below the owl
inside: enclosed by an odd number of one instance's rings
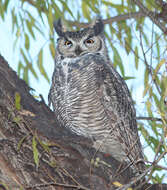
[[[91,139],[58,123],[0,56],[0,190],[108,190],[134,180],[129,168],[120,169],[121,163],[91,145]],[[146,187],[167,189],[150,184],[141,189]]]

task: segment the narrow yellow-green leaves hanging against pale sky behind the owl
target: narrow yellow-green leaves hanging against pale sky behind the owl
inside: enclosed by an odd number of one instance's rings
[[[161,11],[160,5],[156,4],[154,0],[142,0],[141,3],[149,11],[155,11],[155,13]],[[62,17],[69,27],[74,25],[79,27],[79,23],[89,22],[96,14],[101,14],[103,18],[110,18],[133,13],[137,10],[137,6],[131,0],[118,2],[105,0],[17,0],[15,3],[9,0],[0,0],[1,19],[5,22],[7,14],[10,14],[12,18],[11,31],[15,38],[13,47],[18,49],[20,57],[17,71],[27,83],[30,80],[30,73],[36,80],[39,79],[38,73],[40,73],[50,82],[44,65],[43,57],[46,55],[43,53],[43,48],[46,46],[54,59],[53,21],[55,19]],[[131,18],[131,16],[129,17]],[[120,21],[106,25],[105,35],[108,48],[112,52],[110,54],[111,62],[124,79],[131,79],[134,84],[137,84],[136,81],[141,81],[144,108],[140,109],[141,102],[136,102],[137,114],[159,118],[159,120],[139,120],[139,130],[151,155],[157,157],[164,154],[161,160],[166,163],[167,103],[164,103],[164,100],[167,96],[167,70],[165,68],[167,39],[147,17],[130,18],[122,17]],[[69,21],[75,21],[78,25]],[[44,44],[38,48],[37,54],[34,55],[32,44],[38,36],[44,40]],[[130,63],[125,63],[125,56],[130,57]],[[133,69],[134,76],[127,76],[131,69]],[[138,101],[135,97],[134,99]],[[19,96],[16,94],[18,110],[20,109],[19,101]],[[38,165],[35,137],[32,144],[34,160]],[[149,156],[147,159],[153,160]],[[154,171],[157,170],[157,168],[154,169]],[[164,173],[165,171],[162,171],[162,173],[152,175],[152,181],[161,183]]]

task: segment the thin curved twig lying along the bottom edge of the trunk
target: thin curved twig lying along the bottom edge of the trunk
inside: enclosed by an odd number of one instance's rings
[[[55,182],[50,182],[50,183],[41,183],[41,184],[36,184],[32,186],[25,187],[25,189],[33,189],[37,187],[46,187],[46,186],[59,186],[59,187],[66,187],[66,188],[75,188],[75,189],[80,189],[80,190],[90,190],[86,187],[83,186],[77,186],[77,185],[70,185],[70,184],[63,184],[63,183],[55,183]]]

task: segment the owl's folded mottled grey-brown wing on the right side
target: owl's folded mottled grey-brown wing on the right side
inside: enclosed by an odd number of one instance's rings
[[[111,123],[111,138],[121,144],[128,162],[143,159],[136,112],[125,81],[110,64],[100,65],[96,72],[98,93],[102,94],[101,102]]]

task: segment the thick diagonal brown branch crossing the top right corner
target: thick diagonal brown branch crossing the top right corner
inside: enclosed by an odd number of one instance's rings
[[[167,29],[165,25],[163,25],[158,19],[155,18],[155,14],[152,11],[149,11],[142,3],[140,0],[132,0],[138,7],[139,9],[145,14],[145,16],[148,16],[152,22],[154,22],[163,32],[164,34],[167,33]]]

